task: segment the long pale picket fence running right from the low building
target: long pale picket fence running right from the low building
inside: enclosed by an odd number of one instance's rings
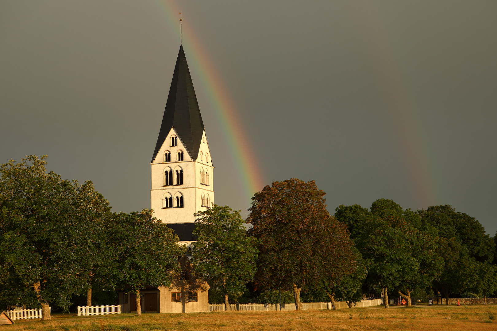
[[[362,300],[360,302],[357,302],[354,305],[352,305],[352,308],[364,308],[364,307],[373,307],[377,305],[382,304],[382,299],[373,299],[373,300]],[[335,301],[335,307],[336,309],[345,309],[348,308],[348,305],[345,301]],[[302,303],[302,310],[314,310],[314,309],[332,309],[331,302],[303,302]],[[210,312],[216,312],[216,311],[224,311],[225,310],[225,305],[224,304],[209,304],[209,311]],[[234,303],[229,304],[229,310],[240,310],[240,311],[259,311],[259,312],[269,312],[269,311],[276,311],[279,310],[279,304],[262,304],[262,303],[245,303],[245,304],[239,304],[238,309],[237,305]],[[295,310],[295,304],[294,303],[287,303],[287,304],[281,304],[281,310],[282,311],[294,311]]]

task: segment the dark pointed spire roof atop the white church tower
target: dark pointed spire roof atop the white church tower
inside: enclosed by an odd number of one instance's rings
[[[159,132],[159,138],[157,138],[152,162],[154,162],[172,127],[174,127],[191,157],[195,160],[202,142],[204,123],[198,108],[190,70],[188,70],[188,65],[186,64],[183,46],[179,47],[178,59],[172,74],[171,88],[167,96],[166,110],[164,111],[161,131]]]

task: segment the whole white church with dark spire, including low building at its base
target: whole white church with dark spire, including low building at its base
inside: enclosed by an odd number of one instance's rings
[[[144,313],[193,313],[209,311],[209,285],[190,275],[193,214],[214,203],[214,176],[204,123],[186,63],[183,46],[172,75],[161,130],[150,163],[151,209],[188,247],[180,259],[181,274],[171,286],[140,290]],[[123,313],[136,312],[136,295],[118,291]]]

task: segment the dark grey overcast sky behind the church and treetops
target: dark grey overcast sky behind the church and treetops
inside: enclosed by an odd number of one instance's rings
[[[451,204],[496,233],[494,0],[2,0],[0,162],[48,154],[49,170],[93,181],[113,211],[150,208],[149,162],[179,49],[179,17],[167,12],[177,8],[265,184],[315,180],[331,213],[379,198]],[[183,46],[215,202],[247,215],[239,164],[194,70],[200,55],[193,40]]]

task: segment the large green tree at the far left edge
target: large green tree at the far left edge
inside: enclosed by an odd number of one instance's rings
[[[81,278],[73,217],[78,184],[46,173],[45,159],[0,166],[0,265],[11,294],[36,297],[43,320],[50,320],[49,302],[67,309]]]

